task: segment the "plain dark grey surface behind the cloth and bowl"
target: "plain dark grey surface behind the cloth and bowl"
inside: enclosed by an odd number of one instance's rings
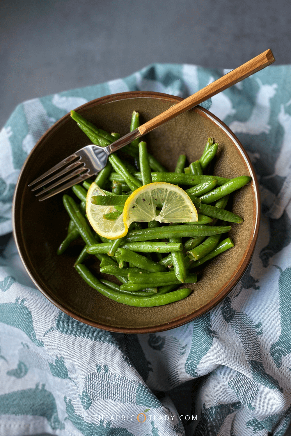
[[[290,0],[2,0],[0,17],[0,127],[24,100],[152,62],[291,63]]]

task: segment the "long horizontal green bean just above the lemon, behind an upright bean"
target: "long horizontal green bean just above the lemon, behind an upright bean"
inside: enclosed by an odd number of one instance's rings
[[[140,173],[134,173],[134,177],[136,177],[138,180],[141,180]],[[216,180],[217,185],[221,186],[226,182],[229,182],[230,180],[225,177],[205,176],[200,174],[183,174],[183,173],[151,173],[151,177],[153,182],[166,182],[174,185],[179,184],[179,185],[191,185],[191,186],[198,185],[207,181],[209,182],[212,180]],[[116,180],[120,182],[125,181],[123,176],[117,173],[111,173],[109,180],[110,181]]]

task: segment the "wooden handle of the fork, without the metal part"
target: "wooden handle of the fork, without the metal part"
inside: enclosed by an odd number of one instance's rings
[[[195,94],[193,95],[190,95],[190,97],[188,97],[187,99],[184,99],[176,105],[171,106],[166,111],[162,112],[161,114],[155,116],[153,119],[150,119],[150,121],[147,121],[147,123],[144,123],[142,126],[138,127],[140,134],[145,135],[146,133],[151,132],[151,130],[155,129],[166,121],[175,118],[175,116],[186,112],[194,106],[199,105],[199,103],[202,103],[213,95],[224,91],[224,89],[229,88],[229,86],[235,85],[237,82],[240,82],[251,74],[262,70],[263,68],[272,64],[274,61],[275,59],[272,51],[264,51],[255,58],[251,59],[250,61],[236,68],[235,70],[227,73],[223,77],[220,77],[215,82],[210,83],[210,85],[205,86],[205,88],[200,89],[200,91],[195,92]]]

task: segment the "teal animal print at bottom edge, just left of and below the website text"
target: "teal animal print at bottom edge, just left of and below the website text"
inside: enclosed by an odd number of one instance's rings
[[[66,412],[68,416],[65,419],[69,419],[72,424],[81,432],[84,436],[134,436],[129,433],[125,428],[111,427],[111,422],[100,420],[99,424],[94,422],[87,422],[82,415],[75,413],[75,408],[72,405],[72,400],[64,397]]]

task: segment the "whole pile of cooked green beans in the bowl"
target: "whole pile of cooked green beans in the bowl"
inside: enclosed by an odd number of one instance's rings
[[[110,134],[96,128],[74,111],[71,116],[96,145],[107,146],[120,137],[119,133]],[[134,111],[130,131],[138,126],[139,113]],[[121,154],[111,154],[95,180],[72,187],[79,204],[72,196],[63,196],[70,221],[68,235],[58,247],[57,254],[62,254],[75,239],[81,237],[85,246],[76,259],[76,271],[89,286],[123,304],[154,307],[187,297],[192,290],[181,286],[196,283],[197,272],[200,271],[193,269],[234,246],[232,239],[226,235],[231,229],[226,222],[243,222],[243,218],[226,210],[226,207],[229,194],[247,184],[251,177],[229,179],[207,175],[218,148],[219,145],[208,138],[200,159],[189,162],[186,167],[187,156],[181,154],[174,173],[167,172],[147,152],[147,144],[138,139],[123,147]],[[121,157],[124,153],[129,155],[128,160]],[[204,171],[206,174],[203,174]],[[160,225],[158,221],[134,222],[122,238],[110,240],[101,237],[92,231],[86,219],[86,195],[92,181],[105,194],[92,197],[92,203],[115,208],[115,211],[103,215],[104,219],[115,220],[120,216],[127,198],[137,188],[152,182],[168,182],[182,185],[198,211],[198,221],[168,225]],[[88,268],[90,263],[86,265],[87,257],[92,255],[100,262],[100,279]],[[121,285],[114,283],[113,277]]]

